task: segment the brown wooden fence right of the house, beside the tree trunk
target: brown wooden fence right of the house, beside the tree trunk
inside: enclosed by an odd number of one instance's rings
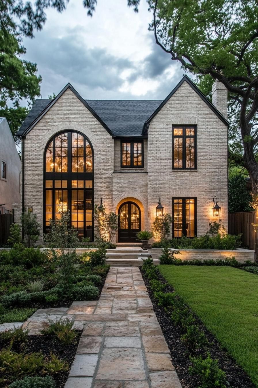
[[[258,232],[254,231],[252,223],[258,223],[256,211],[243,211],[241,213],[229,213],[229,234],[242,234],[242,248],[257,248]]]

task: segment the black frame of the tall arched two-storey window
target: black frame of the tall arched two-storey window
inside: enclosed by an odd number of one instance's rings
[[[78,133],[79,135],[82,135],[84,137],[84,172],[72,172],[72,132]],[[46,151],[48,149],[48,146],[51,141],[53,141],[53,163],[55,158],[55,137],[62,134],[62,133],[68,133],[68,159],[67,159],[67,172],[55,172],[55,167],[53,168],[53,171],[47,172],[46,171]],[[88,144],[91,146],[92,150],[92,172],[86,172],[86,147],[85,143],[88,142]],[[52,188],[46,187],[46,181],[50,180],[52,181]],[[91,180],[92,181],[92,189],[88,189],[92,191],[92,239],[91,241],[94,241],[94,149],[92,147],[91,141],[87,138],[87,136],[84,135],[84,133],[81,133],[76,130],[63,130],[61,132],[55,133],[49,140],[44,150],[44,174],[43,174],[43,232],[48,232],[48,228],[46,227],[46,190],[50,189],[52,190],[52,216],[53,219],[55,219],[55,181],[57,180],[66,180],[67,181],[67,187],[61,187],[60,190],[67,190],[67,206],[68,209],[71,209],[72,207],[72,190],[84,190],[84,237],[88,237],[87,233],[87,227],[86,227],[86,191],[87,187],[85,187],[85,181]],[[84,181],[84,187],[83,188],[75,188],[72,187],[72,180],[83,180]],[[72,227],[72,212],[71,212],[71,220],[70,220],[70,227]]]

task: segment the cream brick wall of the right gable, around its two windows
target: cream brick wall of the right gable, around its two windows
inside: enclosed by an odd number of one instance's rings
[[[197,125],[197,170],[172,170],[172,125]],[[164,213],[172,214],[174,197],[197,197],[197,235],[205,234],[217,196],[227,229],[227,127],[184,82],[149,126],[148,227],[159,196]]]

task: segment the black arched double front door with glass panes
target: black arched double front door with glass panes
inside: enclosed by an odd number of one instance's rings
[[[118,209],[118,242],[137,242],[141,230],[141,211],[133,202],[125,202]]]

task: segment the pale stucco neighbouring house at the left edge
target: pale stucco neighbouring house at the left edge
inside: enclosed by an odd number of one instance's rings
[[[19,204],[21,159],[6,118],[0,117],[0,214],[13,212]]]

